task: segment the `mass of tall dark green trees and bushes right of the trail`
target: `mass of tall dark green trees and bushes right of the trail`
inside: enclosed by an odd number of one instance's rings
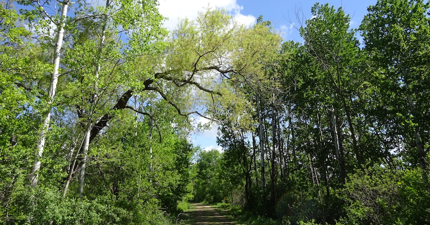
[[[241,121],[240,111],[219,107],[225,116],[218,138],[225,151],[222,173],[241,193],[232,200],[240,196],[235,203],[291,224],[427,224],[418,216],[428,215],[426,203],[417,201],[424,207],[415,215],[402,210],[414,198],[409,194],[428,199],[428,10],[420,0],[378,1],[361,26],[361,49],[342,8],[316,4],[301,27],[304,44],[285,42],[271,58],[280,66],[266,64],[267,76],[255,79],[259,88],[229,83],[251,112],[262,108],[257,124],[255,115]],[[264,173],[258,141],[264,142]],[[364,169],[366,161],[376,166]],[[401,188],[408,171],[419,184]]]

